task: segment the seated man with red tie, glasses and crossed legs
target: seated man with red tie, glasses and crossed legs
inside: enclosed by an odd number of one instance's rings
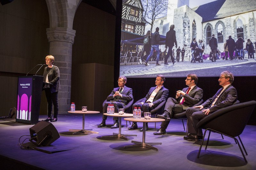
[[[203,90],[196,86],[198,82],[196,74],[188,74],[185,82],[188,87],[182,89],[182,91],[178,90],[175,99],[172,97],[168,98],[163,115],[157,115],[158,118],[165,119],[165,122],[162,122],[161,128],[154,135],[165,134],[165,129],[173,114],[185,112],[188,107],[194,106],[203,98]]]

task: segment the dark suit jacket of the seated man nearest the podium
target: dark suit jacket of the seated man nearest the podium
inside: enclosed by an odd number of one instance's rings
[[[121,102],[123,106],[126,106],[129,103],[129,101],[133,99],[132,89],[125,86],[125,88],[121,92],[122,97],[118,98],[118,96],[116,96],[113,98],[113,95],[115,94],[116,91],[119,91],[119,89],[120,89],[119,87],[114,88],[113,91],[108,95],[107,101],[110,101],[110,100],[118,101],[118,102]]]

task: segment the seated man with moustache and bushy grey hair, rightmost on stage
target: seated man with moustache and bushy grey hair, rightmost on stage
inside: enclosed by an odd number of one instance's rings
[[[197,123],[205,116],[217,111],[220,108],[233,105],[237,99],[236,88],[231,85],[234,81],[234,76],[229,71],[220,73],[219,84],[222,86],[214,96],[206,100],[202,105],[189,107],[186,110],[188,117],[188,136],[185,140],[198,141],[202,139],[202,129],[197,129]]]

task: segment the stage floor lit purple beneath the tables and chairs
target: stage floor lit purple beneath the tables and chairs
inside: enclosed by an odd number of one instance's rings
[[[46,116],[40,116],[39,120]],[[52,143],[55,147],[66,147],[68,151],[57,153],[45,153],[36,150],[22,150],[19,147],[19,137],[29,135],[27,125],[16,122],[0,120],[0,167],[10,169],[256,169],[256,126],[247,125],[241,135],[241,139],[247,150],[243,156],[237,144],[232,138],[221,138],[220,134],[212,133],[210,146],[201,151],[199,159],[196,158],[199,150],[198,144],[183,140],[185,131],[181,120],[172,119],[167,134],[153,135],[154,123],[149,123],[146,132],[146,142],[162,142],[155,145],[158,151],[148,148],[124,148],[132,144],[131,141],[142,141],[142,132],[122,128],[123,134],[136,134],[137,137],[128,137],[129,140],[109,138],[101,139],[101,136],[118,133],[118,129],[108,127],[98,128],[102,114],[86,115],[85,129],[92,129],[99,134],[72,135],[68,129],[82,129],[82,115],[59,115],[58,122],[52,122],[60,134],[60,138]],[[108,117],[107,124],[112,124],[112,117]],[[125,121],[123,121],[125,125]],[[128,122],[129,124],[129,122]],[[142,123],[138,123],[139,128]],[[129,125],[128,125],[129,126]],[[156,123],[160,127],[160,123]],[[25,137],[23,138],[25,139]],[[23,141],[23,140],[22,140]],[[25,142],[31,144],[29,141]]]

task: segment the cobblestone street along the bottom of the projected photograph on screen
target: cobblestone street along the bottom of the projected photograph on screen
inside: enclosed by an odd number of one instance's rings
[[[184,77],[189,73],[194,73],[198,76],[219,76],[220,72],[224,70],[229,70],[237,76],[256,75],[256,59],[248,58],[233,61],[217,60],[216,62],[204,60],[203,63],[190,63],[187,61],[177,62],[174,65],[169,62],[169,65],[160,63],[160,66],[156,66],[155,62],[149,62],[149,66],[145,66],[144,62],[141,65],[132,64],[135,65],[120,65],[120,76],[155,77],[157,74],[163,74],[166,77]]]

